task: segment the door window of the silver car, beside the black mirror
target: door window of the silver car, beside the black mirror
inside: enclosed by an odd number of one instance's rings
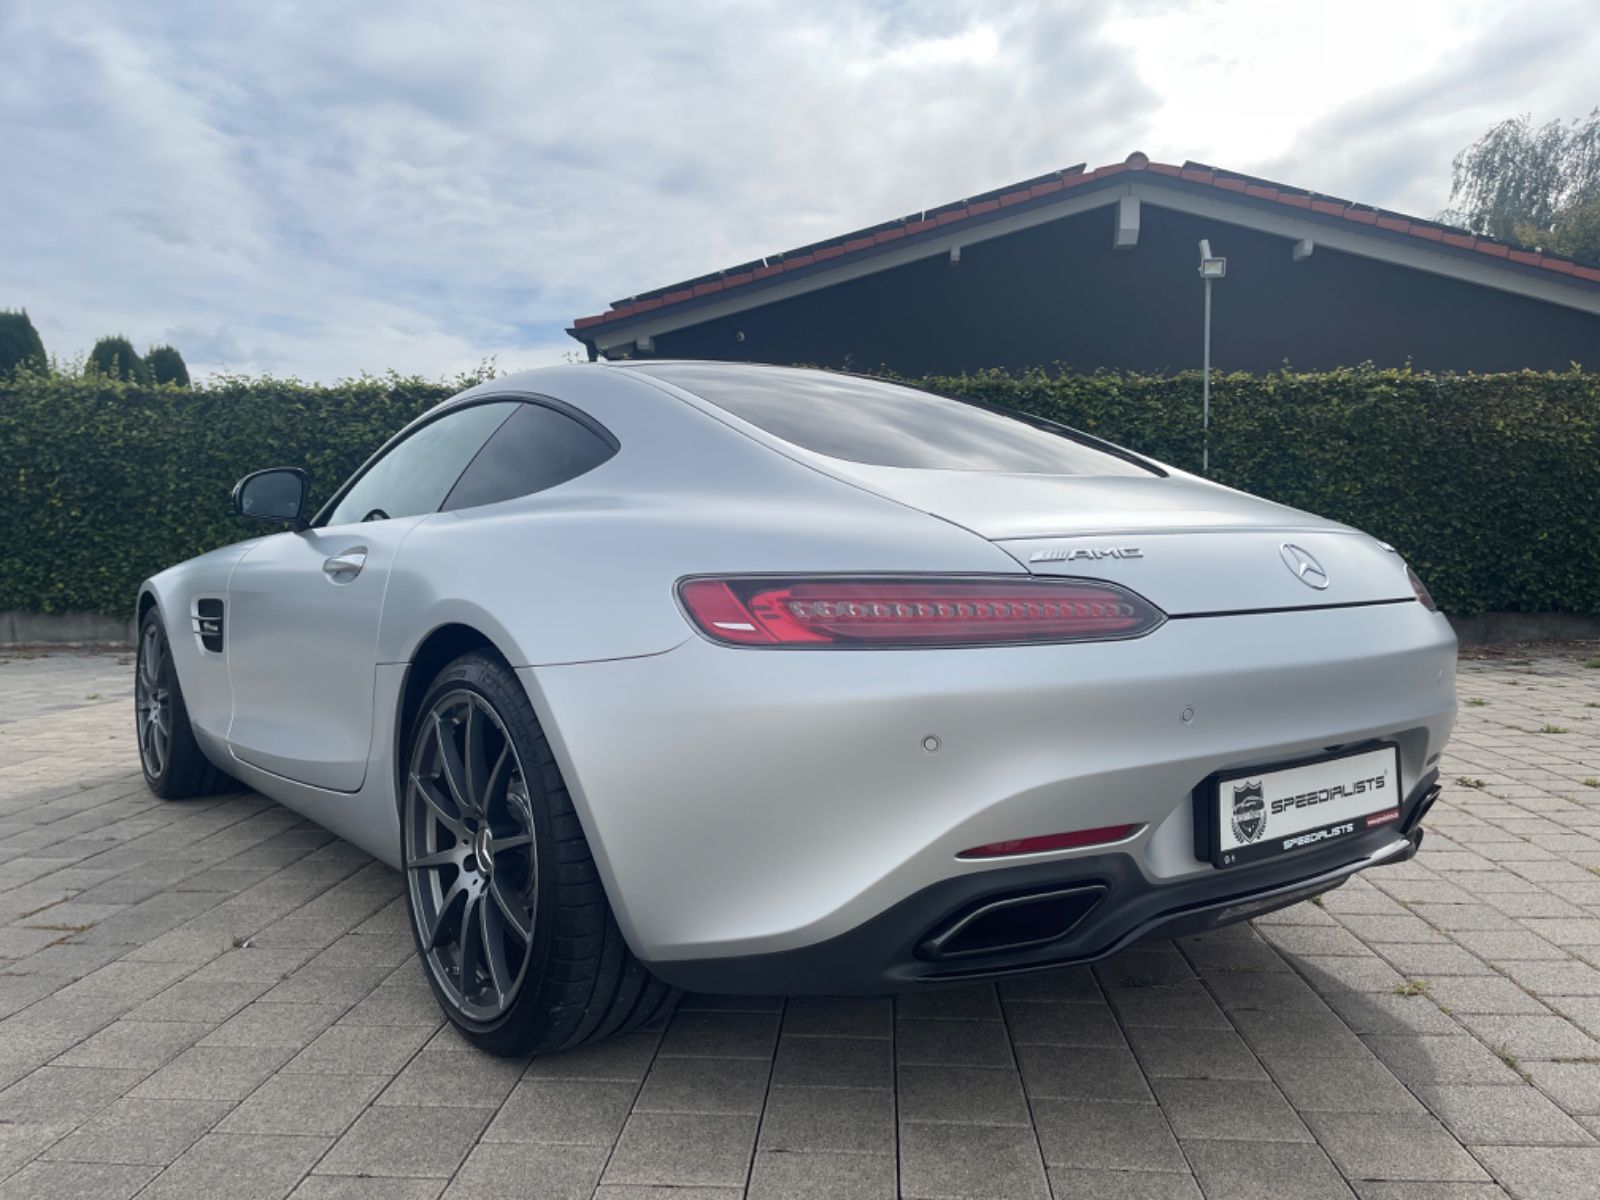
[[[325,525],[438,512],[472,456],[518,402],[470,405],[430,421],[355,480]]]

